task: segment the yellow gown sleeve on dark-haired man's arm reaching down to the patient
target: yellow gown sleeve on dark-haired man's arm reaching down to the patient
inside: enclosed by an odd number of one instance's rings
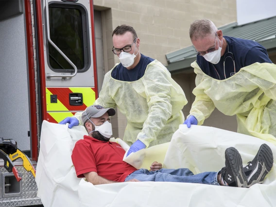
[[[183,90],[173,81],[169,71],[165,67],[162,68],[158,65],[154,67],[159,67],[160,69],[147,69],[152,72],[146,74],[144,78],[149,114],[143,124],[142,131],[137,136],[137,139],[142,141],[147,147],[152,140],[156,139],[160,130],[170,119],[172,111],[175,108],[181,110],[183,106],[187,104]],[[179,92],[178,87],[181,89],[181,92]],[[174,105],[174,109],[172,109],[172,96],[176,93],[178,93],[178,96],[181,98],[179,98],[177,105]]]

